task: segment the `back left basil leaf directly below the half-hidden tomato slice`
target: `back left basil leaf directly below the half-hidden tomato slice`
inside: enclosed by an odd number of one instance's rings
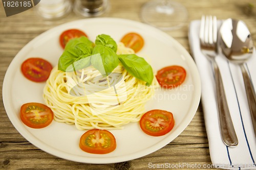
[[[65,50],[68,50],[69,48],[73,48],[75,46],[82,47],[82,46],[88,46],[90,48],[93,48],[93,42],[90,41],[87,37],[79,37],[79,38],[73,38],[70,39],[69,42],[65,46]]]

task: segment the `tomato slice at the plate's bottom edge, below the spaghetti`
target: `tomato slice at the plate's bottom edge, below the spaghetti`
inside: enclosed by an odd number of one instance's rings
[[[91,154],[108,154],[116,149],[116,139],[110,131],[92,129],[81,136],[79,147]]]

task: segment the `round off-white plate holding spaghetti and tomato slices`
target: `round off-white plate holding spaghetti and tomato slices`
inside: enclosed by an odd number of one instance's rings
[[[34,83],[26,79],[20,65],[31,57],[45,58],[57,65],[62,53],[58,37],[62,31],[77,28],[83,30],[92,41],[99,34],[108,34],[117,42],[128,32],[137,32],[145,40],[138,55],[147,55],[155,70],[168,65],[181,65],[187,71],[185,82],[177,89],[157,90],[146,110],[162,109],[173,112],[175,126],[168,134],[160,137],[146,135],[138,123],[130,123],[123,130],[111,130],[117,142],[115,151],[105,155],[89,154],[79,148],[79,139],[84,131],[75,126],[55,121],[46,128],[32,129],[19,118],[19,109],[25,103],[44,103],[42,89],[45,83]],[[13,126],[29,142],[39,149],[57,157],[84,163],[115,163],[128,161],[150,154],[174,140],[194,117],[201,96],[201,82],[194,60],[172,37],[140,22],[117,18],[92,18],[76,20],[55,27],[34,38],[16,55],[4,79],[3,99],[6,112]]]

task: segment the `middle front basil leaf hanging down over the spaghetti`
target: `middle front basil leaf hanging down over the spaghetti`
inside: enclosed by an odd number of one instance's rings
[[[116,52],[108,46],[97,44],[93,48],[92,65],[99,70],[101,75],[110,75],[118,66],[119,61]]]

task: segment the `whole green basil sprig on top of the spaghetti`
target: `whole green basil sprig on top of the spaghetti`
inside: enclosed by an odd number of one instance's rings
[[[152,84],[153,69],[144,58],[135,54],[117,55],[116,51],[117,44],[109,35],[98,35],[95,45],[87,37],[74,38],[60,56],[58,69],[70,72],[93,65],[102,75],[109,76],[120,61],[131,75],[146,85]]]

